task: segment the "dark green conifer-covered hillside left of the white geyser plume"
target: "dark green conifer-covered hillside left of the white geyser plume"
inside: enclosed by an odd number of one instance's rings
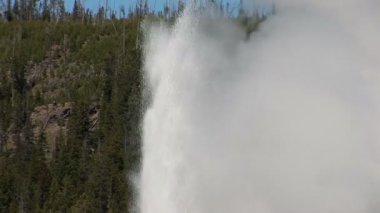
[[[129,212],[140,161],[141,21],[79,0],[0,0],[0,212]],[[222,11],[229,11],[229,5]]]

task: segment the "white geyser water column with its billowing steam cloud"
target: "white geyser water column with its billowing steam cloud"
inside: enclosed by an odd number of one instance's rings
[[[380,211],[375,0],[288,0],[247,41],[188,9],[147,31],[141,213]]]

